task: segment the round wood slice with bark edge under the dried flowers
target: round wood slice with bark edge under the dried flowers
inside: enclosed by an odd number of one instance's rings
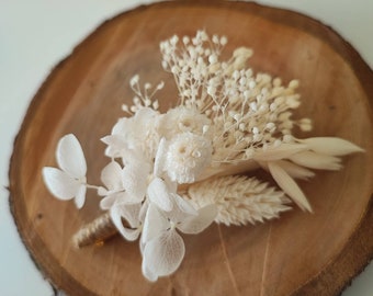
[[[99,197],[82,210],[46,191],[41,170],[55,164],[57,140],[80,139],[90,183],[105,164],[100,138],[110,133],[133,93],[128,80],[167,82],[162,107],[176,100],[158,44],[173,34],[228,36],[225,53],[252,47],[251,66],[301,80],[315,129],[299,136],[338,136],[366,152],[346,158],[339,172],[302,182],[314,214],[295,208],[247,227],[212,226],[184,236],[187,255],[155,284],[140,273],[138,243],[114,238],[76,250],[71,236],[100,215]],[[69,295],[336,295],[373,253],[373,73],[354,49],[317,21],[255,3],[177,1],[142,7],[105,22],[61,61],[35,95],[14,144],[11,207],[20,235],[43,273]],[[160,96],[160,95],[159,95]]]

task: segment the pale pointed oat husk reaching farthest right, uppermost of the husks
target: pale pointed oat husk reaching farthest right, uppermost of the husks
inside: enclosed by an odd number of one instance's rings
[[[352,144],[349,140],[337,137],[313,137],[299,140],[306,144],[309,149],[318,153],[329,156],[346,156],[354,152],[363,152],[364,149]]]

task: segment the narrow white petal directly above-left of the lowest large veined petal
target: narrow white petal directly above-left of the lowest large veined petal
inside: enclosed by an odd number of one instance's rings
[[[146,243],[159,237],[169,227],[169,220],[160,213],[155,204],[150,203],[145,215],[142,241]]]

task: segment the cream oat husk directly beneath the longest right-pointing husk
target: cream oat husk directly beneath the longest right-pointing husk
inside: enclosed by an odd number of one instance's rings
[[[299,166],[317,170],[338,171],[342,168],[340,158],[313,151],[302,151],[291,156],[289,159]]]

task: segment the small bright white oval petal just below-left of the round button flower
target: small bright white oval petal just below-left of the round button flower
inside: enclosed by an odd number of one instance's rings
[[[172,194],[163,180],[155,178],[147,190],[149,201],[160,209],[170,212],[172,209]]]

